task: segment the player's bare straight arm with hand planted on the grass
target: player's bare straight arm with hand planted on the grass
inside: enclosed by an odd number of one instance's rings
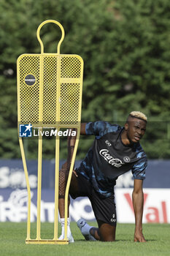
[[[134,191],[132,193],[134,215],[135,215],[135,232],[134,241],[146,242],[142,234],[142,215],[144,206],[143,180],[134,179]]]

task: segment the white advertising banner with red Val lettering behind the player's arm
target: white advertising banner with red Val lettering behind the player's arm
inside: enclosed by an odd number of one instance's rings
[[[134,223],[133,189],[115,189],[117,222]],[[143,223],[170,223],[170,189],[144,189]]]

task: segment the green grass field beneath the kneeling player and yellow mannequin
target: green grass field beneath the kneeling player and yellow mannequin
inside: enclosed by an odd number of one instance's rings
[[[75,243],[69,245],[26,245],[26,223],[0,223],[1,256],[163,256],[170,255],[170,225],[145,224],[144,237],[147,243],[134,243],[134,225],[117,224],[115,242],[85,241],[76,223],[71,223]],[[35,236],[36,224],[31,225]],[[42,238],[52,238],[53,224],[42,224]],[[46,235],[46,237],[45,237]]]

